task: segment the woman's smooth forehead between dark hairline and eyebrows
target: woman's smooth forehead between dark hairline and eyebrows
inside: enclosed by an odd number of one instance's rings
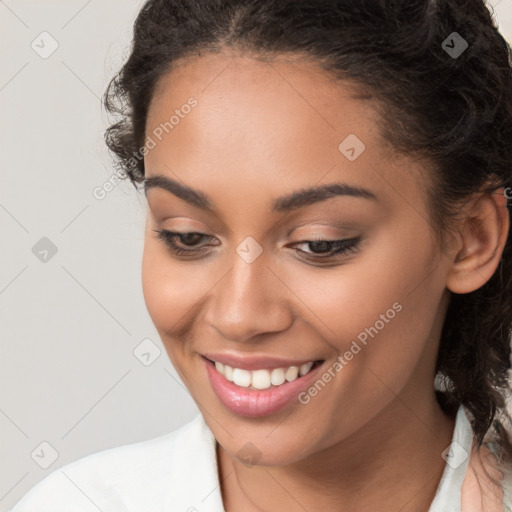
[[[184,108],[190,98],[195,106]],[[417,201],[421,173],[390,154],[377,122],[356,85],[334,81],[305,59],[183,59],[155,88],[146,137],[160,131],[145,158],[146,175],[168,174],[219,197],[226,183],[250,199],[256,189],[277,196],[343,181],[396,200],[392,183],[402,173],[402,192]],[[347,158],[350,147],[355,159]]]

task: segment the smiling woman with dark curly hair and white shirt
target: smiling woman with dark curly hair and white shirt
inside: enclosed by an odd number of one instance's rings
[[[106,106],[201,411],[15,512],[512,510],[512,73],[481,0],[151,0]]]

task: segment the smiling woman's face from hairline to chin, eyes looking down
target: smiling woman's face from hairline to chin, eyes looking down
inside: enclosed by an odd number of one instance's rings
[[[151,102],[146,305],[220,445],[243,458],[250,442],[260,465],[433,394],[447,264],[428,173],[355,91],[303,59],[216,54]]]

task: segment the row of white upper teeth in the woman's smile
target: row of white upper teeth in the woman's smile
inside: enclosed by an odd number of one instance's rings
[[[232,368],[227,364],[215,361],[215,368],[219,373],[230,382],[243,388],[252,387],[253,389],[268,389],[270,386],[280,386],[287,382],[292,382],[306,375],[311,370],[313,362],[305,363],[302,366],[290,366],[289,368],[274,368],[273,370],[242,370],[241,368]]]

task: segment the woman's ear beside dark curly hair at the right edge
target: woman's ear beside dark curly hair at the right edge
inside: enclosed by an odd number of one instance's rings
[[[483,286],[494,274],[509,231],[507,196],[503,188],[479,193],[466,206],[459,228],[458,250],[447,275],[453,293],[469,293]]]

